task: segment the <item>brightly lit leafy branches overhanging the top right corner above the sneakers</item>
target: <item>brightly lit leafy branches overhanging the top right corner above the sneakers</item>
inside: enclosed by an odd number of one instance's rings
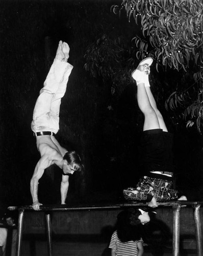
[[[203,3],[197,0],[124,0],[129,20],[133,16],[141,24],[142,38],[133,40],[137,47],[136,56],[143,59],[153,57],[158,65],[177,70],[203,64]],[[118,6],[113,7],[114,13]]]

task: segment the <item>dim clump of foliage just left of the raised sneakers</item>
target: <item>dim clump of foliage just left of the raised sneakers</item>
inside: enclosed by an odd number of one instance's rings
[[[131,82],[131,73],[135,67],[134,49],[124,36],[111,38],[100,35],[87,49],[84,68],[93,77],[101,77],[109,83],[111,94],[120,95],[126,84]]]

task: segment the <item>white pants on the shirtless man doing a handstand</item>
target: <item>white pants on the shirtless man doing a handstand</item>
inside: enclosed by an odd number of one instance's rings
[[[61,98],[66,92],[72,68],[68,62],[54,59],[35,104],[31,123],[34,133],[50,131],[56,134],[59,131]]]

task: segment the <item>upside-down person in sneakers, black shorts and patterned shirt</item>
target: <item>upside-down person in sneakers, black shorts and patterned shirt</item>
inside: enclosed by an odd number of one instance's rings
[[[168,132],[150,90],[148,76],[152,63],[152,58],[145,58],[132,73],[137,83],[138,106],[144,114],[141,155],[145,174],[135,188],[124,189],[123,195],[127,200],[146,200],[148,206],[157,207],[159,201],[178,199],[179,193],[172,189],[173,136]],[[187,200],[187,198],[182,196],[179,200]]]

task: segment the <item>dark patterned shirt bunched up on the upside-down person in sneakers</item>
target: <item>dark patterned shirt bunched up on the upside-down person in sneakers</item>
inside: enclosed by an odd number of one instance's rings
[[[177,199],[177,191],[171,189],[172,181],[142,177],[136,188],[129,187],[123,190],[124,198],[128,201],[143,201],[147,195],[154,196],[158,202]]]

